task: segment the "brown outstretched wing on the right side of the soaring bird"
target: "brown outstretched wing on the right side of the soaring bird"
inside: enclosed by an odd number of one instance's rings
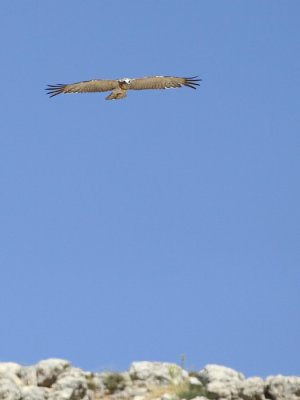
[[[176,76],[145,76],[144,78],[132,79],[129,89],[143,90],[143,89],[170,89],[179,88],[181,86],[188,86],[196,89],[199,86],[201,79],[197,76],[191,78],[179,78]]]

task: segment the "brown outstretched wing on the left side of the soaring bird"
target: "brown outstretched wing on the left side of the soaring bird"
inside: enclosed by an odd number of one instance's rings
[[[60,93],[92,93],[92,92],[107,92],[119,87],[117,80],[97,79],[92,81],[82,81],[71,83],[69,85],[57,84],[48,85],[46,88],[47,94],[50,97],[57,96]]]

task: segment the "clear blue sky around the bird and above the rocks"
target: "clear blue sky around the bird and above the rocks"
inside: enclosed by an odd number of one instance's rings
[[[2,1],[0,360],[300,374],[299,13]],[[203,82],[44,92],[164,74]]]

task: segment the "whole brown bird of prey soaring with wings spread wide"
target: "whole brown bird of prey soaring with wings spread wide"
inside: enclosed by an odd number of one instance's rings
[[[179,78],[176,76],[146,76],[143,78],[95,79],[70,84],[48,85],[50,97],[61,93],[92,93],[112,91],[105,99],[119,100],[127,96],[127,90],[171,89],[187,86],[196,89],[201,79],[197,76]]]

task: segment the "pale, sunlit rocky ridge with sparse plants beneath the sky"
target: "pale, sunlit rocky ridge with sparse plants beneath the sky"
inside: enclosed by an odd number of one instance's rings
[[[87,372],[61,359],[33,366],[0,363],[0,400],[300,400],[300,377],[246,379],[207,365],[188,372],[176,364],[134,362],[126,372]]]

